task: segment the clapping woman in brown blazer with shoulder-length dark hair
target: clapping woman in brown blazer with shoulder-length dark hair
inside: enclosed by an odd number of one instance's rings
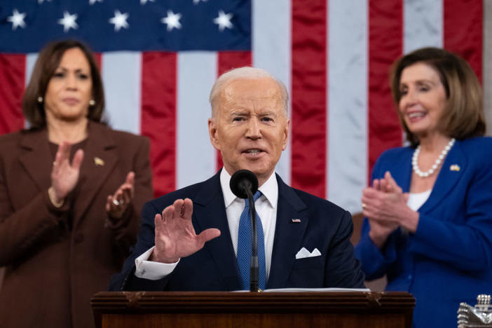
[[[0,137],[1,327],[93,327],[152,198],[149,142],[100,123],[102,79],[78,41],[39,53],[22,109]]]

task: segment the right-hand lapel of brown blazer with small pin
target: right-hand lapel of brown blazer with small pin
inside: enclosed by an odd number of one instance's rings
[[[116,144],[111,135],[107,133],[106,128],[96,123],[89,123],[88,131],[89,137],[84,149],[81,175],[78,178],[80,196],[74,203],[74,227],[76,227],[81,217],[86,214],[97,191],[100,190],[102,183],[118,162]],[[103,195],[104,198],[106,196]]]

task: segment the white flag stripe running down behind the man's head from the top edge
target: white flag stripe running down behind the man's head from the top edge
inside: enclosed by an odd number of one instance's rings
[[[291,8],[290,1],[253,0],[252,60],[253,66],[266,69],[290,89]],[[290,93],[290,90],[289,90]],[[289,102],[290,112],[290,102]],[[277,172],[290,184],[290,136],[287,149],[277,163]]]

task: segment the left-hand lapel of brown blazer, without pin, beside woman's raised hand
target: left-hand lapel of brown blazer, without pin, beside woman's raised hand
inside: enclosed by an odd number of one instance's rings
[[[20,146],[27,150],[20,156],[20,163],[27,174],[34,180],[39,190],[48,189],[51,185],[50,173],[53,167],[48,132],[43,129],[25,134]]]

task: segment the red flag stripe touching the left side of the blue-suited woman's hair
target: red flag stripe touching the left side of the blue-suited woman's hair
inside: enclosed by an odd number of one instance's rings
[[[386,149],[402,145],[389,71],[403,52],[403,2],[369,0],[369,179]]]

